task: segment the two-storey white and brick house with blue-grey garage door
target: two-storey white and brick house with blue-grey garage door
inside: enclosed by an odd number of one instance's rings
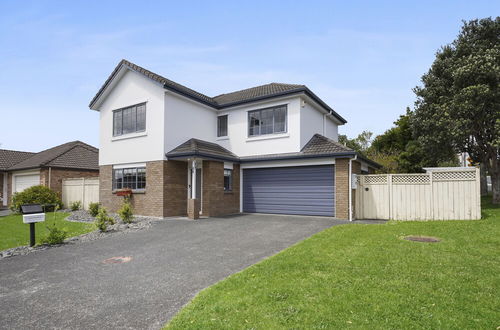
[[[209,97],[122,60],[92,99],[100,202],[135,213],[352,216],[352,174],[378,164],[337,142],[346,120],[305,85]],[[117,193],[119,192],[119,193]]]

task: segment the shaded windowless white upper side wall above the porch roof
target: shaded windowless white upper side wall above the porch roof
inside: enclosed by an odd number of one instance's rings
[[[165,92],[165,153],[191,138],[215,142],[215,109],[172,92]]]

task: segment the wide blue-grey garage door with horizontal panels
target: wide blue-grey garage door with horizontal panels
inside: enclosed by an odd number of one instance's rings
[[[333,165],[243,170],[243,211],[334,216]]]

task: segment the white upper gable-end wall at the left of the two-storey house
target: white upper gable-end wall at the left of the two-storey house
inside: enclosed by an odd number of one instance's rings
[[[99,165],[161,160],[164,158],[164,89],[134,71],[114,84],[100,111]],[[146,131],[113,137],[113,110],[146,102]]]

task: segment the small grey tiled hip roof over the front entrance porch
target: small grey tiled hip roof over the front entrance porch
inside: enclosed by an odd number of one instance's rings
[[[217,143],[199,139],[190,139],[167,153],[167,158],[175,157],[208,157],[221,160],[238,161],[238,156]]]

